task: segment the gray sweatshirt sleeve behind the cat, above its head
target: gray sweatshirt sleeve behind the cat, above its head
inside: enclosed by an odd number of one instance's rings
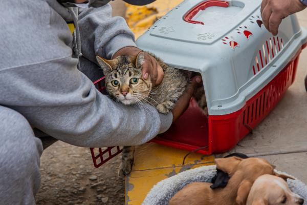
[[[112,17],[112,7],[80,9],[79,28],[81,51],[85,58],[96,62],[95,56],[112,58],[121,48],[134,46],[135,38],[123,17]]]

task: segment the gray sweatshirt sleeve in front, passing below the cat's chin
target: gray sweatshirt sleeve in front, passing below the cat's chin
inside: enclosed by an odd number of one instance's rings
[[[67,57],[0,71],[0,104],[71,145],[141,145],[171,125],[156,108],[124,106],[101,94]]]

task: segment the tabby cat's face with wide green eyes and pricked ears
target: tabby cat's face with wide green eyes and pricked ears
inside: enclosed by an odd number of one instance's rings
[[[122,104],[131,105],[145,99],[152,88],[151,80],[142,78],[144,53],[137,57],[118,56],[113,60],[96,57],[105,74],[105,85],[109,95]]]

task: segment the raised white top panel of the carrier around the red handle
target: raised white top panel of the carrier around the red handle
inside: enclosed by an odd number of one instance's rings
[[[166,14],[159,28],[152,30],[150,35],[210,45],[224,37],[256,9],[255,0],[185,1]]]

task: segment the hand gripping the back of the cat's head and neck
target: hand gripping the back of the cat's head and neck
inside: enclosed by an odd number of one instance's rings
[[[142,50],[137,47],[127,46],[117,51],[113,55],[112,59],[120,55],[137,56],[141,51]],[[143,68],[142,68],[143,78],[147,79],[150,76],[153,86],[160,85],[164,77],[164,72],[161,66],[158,64],[157,60],[153,58],[151,55],[149,55],[148,53],[145,53],[144,63],[142,65],[143,65]]]

